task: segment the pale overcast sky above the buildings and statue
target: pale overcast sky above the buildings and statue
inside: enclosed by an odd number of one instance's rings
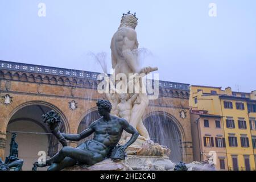
[[[38,16],[38,4],[46,16]],[[210,17],[209,3],[217,16]],[[102,72],[122,13],[137,13],[139,47],[160,80],[256,90],[256,1],[0,0],[0,60]]]

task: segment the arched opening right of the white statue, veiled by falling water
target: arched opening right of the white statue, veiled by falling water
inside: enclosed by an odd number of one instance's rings
[[[169,158],[172,162],[177,163],[183,160],[182,134],[175,118],[165,113],[151,113],[144,119],[144,125],[151,140],[170,148]]]

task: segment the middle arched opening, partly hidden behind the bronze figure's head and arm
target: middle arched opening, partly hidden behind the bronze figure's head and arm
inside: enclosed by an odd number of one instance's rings
[[[97,110],[92,110],[90,111],[88,114],[85,115],[85,117],[82,119],[82,121],[80,122],[79,124],[79,127],[77,129],[77,133],[81,133],[82,131],[84,131],[85,129],[88,129],[88,127],[90,126],[90,124],[99,119],[101,116],[100,114],[98,114],[98,111]],[[85,139],[82,139],[80,143],[84,142],[85,140],[89,140],[89,139],[92,139],[93,138],[93,135],[90,135],[89,137],[86,137]]]

